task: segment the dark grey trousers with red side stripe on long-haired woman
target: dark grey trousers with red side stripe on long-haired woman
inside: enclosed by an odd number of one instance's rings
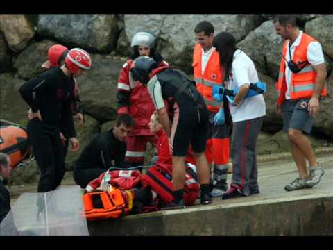
[[[258,117],[233,123],[231,185],[243,190],[246,196],[250,194],[250,191],[259,191],[256,144],[263,121],[264,117]]]

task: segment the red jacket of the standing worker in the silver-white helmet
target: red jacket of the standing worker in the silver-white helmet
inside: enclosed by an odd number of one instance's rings
[[[134,119],[134,128],[130,135],[153,135],[148,123],[155,111],[155,106],[148,93],[147,86],[130,78],[133,60],[128,60],[122,67],[117,85],[117,113],[130,113]],[[159,66],[168,65],[164,60]]]

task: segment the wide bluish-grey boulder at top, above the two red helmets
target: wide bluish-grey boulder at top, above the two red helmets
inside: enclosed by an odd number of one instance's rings
[[[40,15],[37,33],[71,47],[110,52],[117,30],[114,15]]]

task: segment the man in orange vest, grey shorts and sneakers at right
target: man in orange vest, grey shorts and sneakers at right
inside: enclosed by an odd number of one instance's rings
[[[276,33],[286,40],[276,85],[280,92],[276,111],[279,115],[283,113],[284,131],[288,132],[291,153],[300,174],[300,178],[284,189],[311,188],[319,183],[324,170],[303,133],[311,132],[314,116],[319,112],[319,100],[327,95],[323,49],[318,41],[298,29],[295,15],[277,15],[273,24]]]

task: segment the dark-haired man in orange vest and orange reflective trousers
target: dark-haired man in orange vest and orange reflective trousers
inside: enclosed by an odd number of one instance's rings
[[[194,80],[210,113],[206,156],[208,163],[214,167],[211,196],[219,197],[228,189],[231,121],[227,115],[228,105],[223,106],[223,102],[213,99],[212,88],[214,85],[223,85],[224,70],[219,63],[219,53],[213,47],[214,26],[207,21],[199,22],[194,28],[194,33],[198,41],[193,54]]]

